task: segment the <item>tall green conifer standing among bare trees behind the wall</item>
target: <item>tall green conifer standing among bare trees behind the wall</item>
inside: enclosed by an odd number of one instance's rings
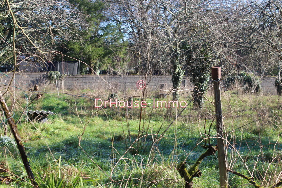
[[[114,56],[122,57],[125,48],[122,47],[122,33],[119,32],[118,24],[108,23],[107,17],[103,14],[105,5],[102,1],[71,0],[85,16],[87,27],[80,28],[78,38],[65,41],[67,48],[59,50],[70,57],[81,60],[82,74],[94,74],[98,69],[107,69],[112,64]],[[60,57],[58,57],[60,59]],[[65,58],[73,60],[72,58]],[[89,72],[85,68],[89,66]]]

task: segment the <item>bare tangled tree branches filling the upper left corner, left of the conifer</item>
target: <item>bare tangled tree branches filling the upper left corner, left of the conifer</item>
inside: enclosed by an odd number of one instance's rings
[[[4,62],[14,62],[14,55],[30,63],[50,60],[58,53],[60,39],[76,35],[78,26],[83,26],[80,14],[64,0],[5,1],[0,15],[0,58]]]

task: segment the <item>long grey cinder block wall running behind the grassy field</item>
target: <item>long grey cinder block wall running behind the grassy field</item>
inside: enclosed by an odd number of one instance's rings
[[[10,84],[13,73],[0,72],[0,85],[5,86]],[[14,81],[11,85],[24,90],[32,89],[33,85],[37,84],[42,87],[52,87],[56,89],[55,84],[49,83],[47,78],[48,72],[17,72]],[[274,81],[276,77],[263,77],[261,86],[264,94],[276,95]],[[145,81],[145,75],[68,75],[63,77],[63,81],[58,81],[59,89],[74,90],[74,89],[107,89],[114,91],[137,90],[136,82],[139,80]],[[159,90],[160,93],[167,93],[172,89],[171,76],[169,75],[147,75],[147,87],[150,89]],[[193,85],[189,78],[183,78],[181,83],[182,89],[192,89]]]

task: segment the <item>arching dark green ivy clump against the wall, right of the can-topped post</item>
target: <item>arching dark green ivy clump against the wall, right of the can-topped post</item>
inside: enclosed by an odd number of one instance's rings
[[[228,76],[224,80],[224,82],[226,83],[226,88],[231,88],[232,84],[234,84],[236,80],[240,84],[246,86],[244,87],[244,92],[246,93],[252,92],[258,94],[261,91],[261,84],[259,83],[259,79],[246,72],[240,72],[236,75]]]

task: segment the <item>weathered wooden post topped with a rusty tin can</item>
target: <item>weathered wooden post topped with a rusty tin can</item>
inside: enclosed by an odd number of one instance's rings
[[[220,77],[221,68],[211,67],[211,78],[213,79],[213,89],[214,89],[214,103],[215,103],[215,113],[216,113],[216,131],[217,136],[217,151],[218,151],[218,165],[219,165],[219,180],[220,187],[227,188],[227,172],[226,172],[226,158],[224,152],[224,142],[223,142],[223,123],[222,123],[222,110],[221,110],[221,96],[220,96]]]

